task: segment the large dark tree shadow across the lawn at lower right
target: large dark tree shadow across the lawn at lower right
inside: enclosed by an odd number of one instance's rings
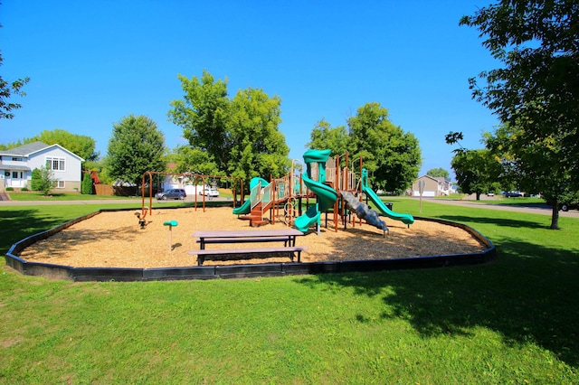
[[[489,265],[302,277],[308,286],[344,286],[382,296],[383,319],[405,319],[424,338],[500,333],[508,345],[537,343],[579,365],[578,252],[517,239],[496,244]],[[365,315],[356,321],[367,322]]]

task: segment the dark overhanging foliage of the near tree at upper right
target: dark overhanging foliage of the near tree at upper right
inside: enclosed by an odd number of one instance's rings
[[[548,150],[546,159],[553,174],[569,174],[553,181],[566,181],[553,186],[559,190],[579,185],[577,14],[576,0],[503,0],[460,20],[479,29],[483,45],[503,64],[470,80],[473,97],[517,127],[510,147],[515,160],[527,157],[527,147],[557,142],[556,154]]]

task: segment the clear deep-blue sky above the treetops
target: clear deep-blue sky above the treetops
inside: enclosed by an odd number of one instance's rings
[[[168,121],[183,98],[177,74],[208,70],[230,97],[248,87],[281,99],[280,130],[302,159],[311,129],[332,127],[368,102],[420,142],[420,174],[451,172],[450,131],[479,148],[497,119],[468,80],[498,67],[479,33],[459,26],[490,0],[196,1],[2,0],[5,80],[30,77],[23,105],[0,120],[0,143],[62,128],[107,154],[112,125],[146,115],[166,146],[184,144]]]

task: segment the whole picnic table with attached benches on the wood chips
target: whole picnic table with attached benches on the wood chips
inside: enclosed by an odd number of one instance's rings
[[[200,230],[193,233],[198,238],[200,245],[198,250],[189,251],[190,255],[197,256],[197,265],[201,266],[205,258],[255,258],[256,255],[265,257],[289,257],[291,261],[298,254],[298,262],[301,261],[301,251],[305,247],[296,246],[296,237],[304,235],[296,229],[283,230]],[[208,244],[225,243],[265,243],[280,242],[283,246],[271,248],[252,249],[205,249]]]

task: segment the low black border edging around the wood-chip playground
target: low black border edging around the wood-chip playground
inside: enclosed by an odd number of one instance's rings
[[[169,208],[167,208],[169,209]],[[487,249],[473,254],[456,254],[446,256],[348,260],[344,262],[289,262],[263,263],[256,265],[224,265],[195,266],[176,268],[72,268],[70,266],[52,265],[47,263],[29,262],[18,255],[33,243],[47,239],[55,233],[64,230],[79,221],[87,220],[103,211],[134,211],[135,209],[103,209],[91,212],[83,217],[67,221],[51,230],[46,230],[22,239],[8,250],[5,255],[6,265],[27,276],[42,276],[52,279],[69,279],[74,281],[159,281],[159,280],[190,280],[214,278],[243,277],[281,277],[286,275],[316,275],[333,273],[371,272],[380,270],[410,269],[410,268],[443,268],[461,265],[476,265],[487,263],[496,258],[497,249],[479,231],[462,223],[444,221],[432,218],[419,218],[421,221],[434,221],[445,225],[458,227],[468,231],[479,239]]]

